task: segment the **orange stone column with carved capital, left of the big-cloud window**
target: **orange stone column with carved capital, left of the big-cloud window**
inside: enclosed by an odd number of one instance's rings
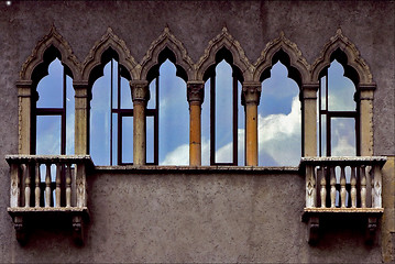
[[[245,108],[245,165],[257,166],[257,105],[261,82],[243,82],[242,105]]]

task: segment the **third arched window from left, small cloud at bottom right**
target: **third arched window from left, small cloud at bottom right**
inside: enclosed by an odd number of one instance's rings
[[[149,70],[150,100],[146,116],[146,164],[188,165],[189,111],[186,72],[176,65],[167,47]]]

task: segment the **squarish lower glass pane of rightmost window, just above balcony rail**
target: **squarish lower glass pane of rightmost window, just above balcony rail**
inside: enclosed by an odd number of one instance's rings
[[[355,119],[331,119],[331,155],[356,156]]]

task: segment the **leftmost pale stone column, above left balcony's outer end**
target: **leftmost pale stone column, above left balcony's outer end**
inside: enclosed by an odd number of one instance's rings
[[[32,81],[20,80],[18,88],[19,154],[31,154]]]

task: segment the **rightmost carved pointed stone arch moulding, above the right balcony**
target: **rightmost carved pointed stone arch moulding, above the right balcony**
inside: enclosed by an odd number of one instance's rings
[[[319,58],[311,66],[311,80],[318,81],[319,74],[322,69],[329,67],[331,61],[330,57],[337,50],[342,51],[347,55],[348,65],[356,70],[360,84],[369,85],[373,84],[372,73],[365,61],[360,56],[360,52],[356,46],[343,35],[341,29],[338,29],[336,35],[332,36],[325,45]]]

